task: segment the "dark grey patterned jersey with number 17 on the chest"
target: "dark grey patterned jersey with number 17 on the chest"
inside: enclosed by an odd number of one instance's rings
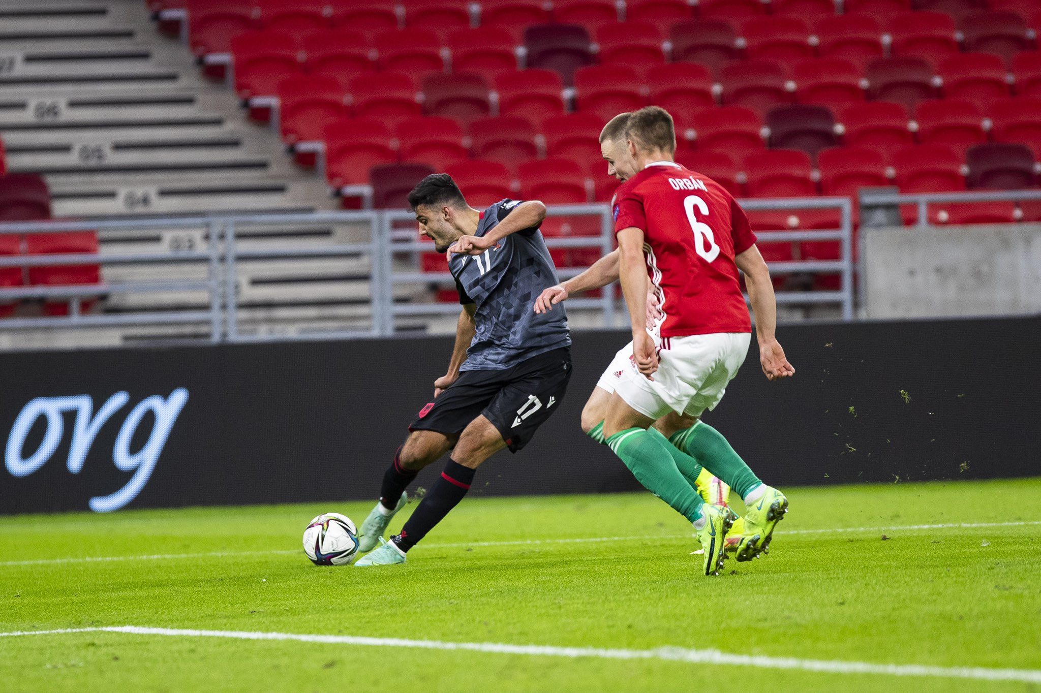
[[[477,225],[483,236],[516,205],[503,200],[488,207]],[[480,255],[449,259],[459,303],[475,304],[477,334],[460,370],[499,370],[554,349],[568,346],[564,307],[539,315],[533,310],[543,289],[559,283],[542,234],[537,228],[512,233]]]

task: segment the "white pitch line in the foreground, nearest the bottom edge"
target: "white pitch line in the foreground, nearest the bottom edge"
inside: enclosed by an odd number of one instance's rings
[[[756,667],[759,669],[798,669],[839,674],[881,674],[888,676],[928,676],[934,678],[974,678],[985,681],[1016,681],[1041,684],[1038,669],[988,669],[985,667],[942,667],[922,664],[872,664],[842,660],[804,660],[793,657],[732,654],[717,649],[657,647],[655,649],[615,649],[600,647],[555,647],[552,645],[510,645],[493,642],[443,642],[440,640],[408,640],[404,638],[367,638],[359,636],[303,635],[296,633],[264,633],[254,631],[199,631],[194,628],[156,628],[120,625],[55,631],[23,631],[0,633],[0,637],[61,635],[72,633],[126,633],[144,636],[181,636],[195,638],[230,638],[234,640],[290,640],[369,647],[410,647],[417,649],[463,650],[496,654],[559,657],[565,659],[661,660],[689,664],[714,664]]]

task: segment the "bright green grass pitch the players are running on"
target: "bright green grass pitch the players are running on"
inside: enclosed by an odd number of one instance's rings
[[[1041,479],[785,490],[791,511],[770,555],[730,560],[718,578],[699,574],[689,525],[648,493],[473,495],[405,566],[372,569],[320,568],[300,546],[313,515],[360,522],[369,503],[0,518],[0,632],[135,625],[678,647],[1041,677]],[[914,527],[923,524],[945,527]],[[590,541],[560,541],[574,539]],[[76,560],[85,557],[117,560]],[[5,693],[217,690],[924,693],[1041,684],[189,635],[0,637]]]

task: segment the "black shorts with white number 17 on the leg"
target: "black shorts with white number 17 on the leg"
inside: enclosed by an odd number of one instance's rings
[[[559,409],[570,379],[569,346],[533,356],[511,368],[463,370],[420,411],[408,430],[458,435],[484,414],[515,453]]]

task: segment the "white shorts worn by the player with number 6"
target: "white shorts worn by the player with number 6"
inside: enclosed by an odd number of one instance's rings
[[[654,380],[648,380],[635,362],[630,361],[614,389],[626,404],[653,419],[670,411],[701,416],[706,409],[715,409],[722,400],[727,384],[744,363],[751,342],[748,332],[664,339]],[[632,345],[629,350],[631,355]]]

